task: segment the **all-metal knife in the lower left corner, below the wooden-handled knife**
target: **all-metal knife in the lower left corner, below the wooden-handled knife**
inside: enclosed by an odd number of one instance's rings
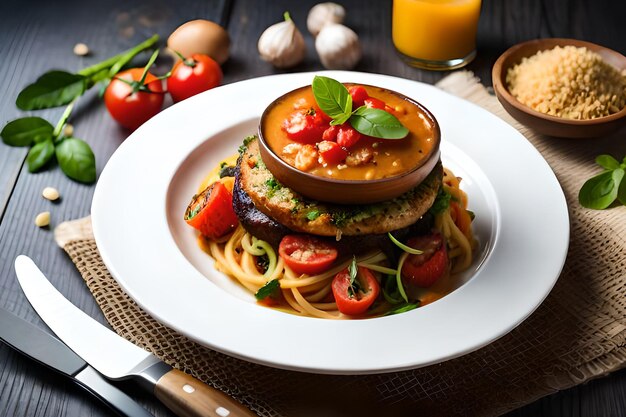
[[[151,417],[132,398],[111,385],[59,339],[0,308],[0,340],[16,351],[71,378],[122,416]]]

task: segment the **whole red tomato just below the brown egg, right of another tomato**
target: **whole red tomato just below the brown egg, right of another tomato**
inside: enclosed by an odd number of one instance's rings
[[[174,101],[182,101],[222,82],[222,69],[208,55],[193,54],[180,60],[167,79],[167,90]]]

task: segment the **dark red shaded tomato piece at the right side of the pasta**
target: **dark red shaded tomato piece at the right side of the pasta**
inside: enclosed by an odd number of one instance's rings
[[[448,253],[440,233],[411,238],[407,245],[423,253],[409,255],[402,265],[405,284],[428,288],[447,272]]]

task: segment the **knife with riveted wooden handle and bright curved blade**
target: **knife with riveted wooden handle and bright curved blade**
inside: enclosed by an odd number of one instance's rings
[[[254,417],[223,392],[172,368],[89,317],[67,300],[27,256],[15,259],[22,290],[50,329],[111,380],[132,378],[181,417]]]

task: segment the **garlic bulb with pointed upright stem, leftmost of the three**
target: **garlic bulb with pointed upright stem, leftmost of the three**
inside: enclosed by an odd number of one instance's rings
[[[284,22],[265,29],[257,46],[261,58],[277,68],[288,68],[299,64],[306,53],[304,38],[288,12],[285,13]]]

